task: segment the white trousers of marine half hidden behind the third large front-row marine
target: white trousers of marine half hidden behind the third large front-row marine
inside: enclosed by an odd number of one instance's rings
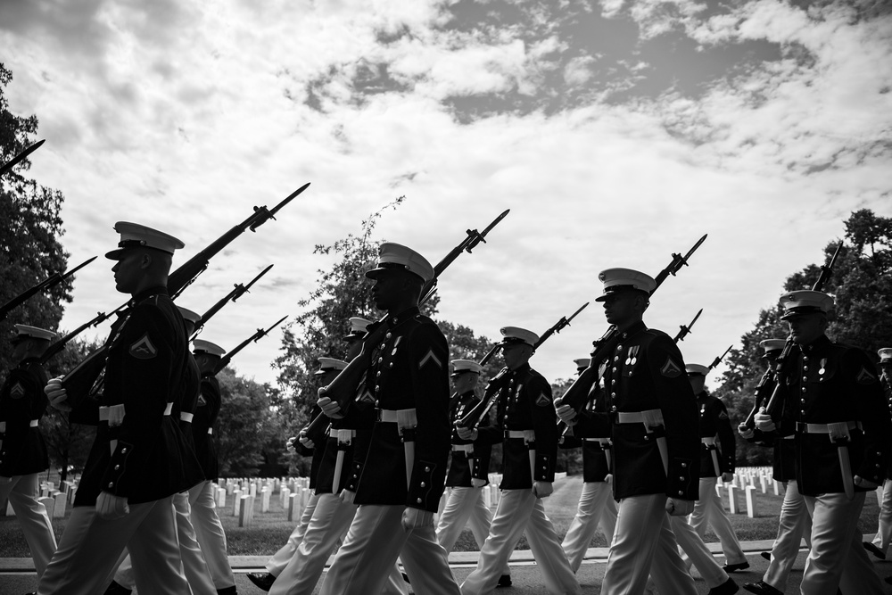
[[[616,529],[616,501],[613,499],[613,490],[607,482],[582,483],[576,516],[561,543],[573,572],[582,566],[582,558],[585,558],[591,538],[599,528],[607,538],[609,546]]]

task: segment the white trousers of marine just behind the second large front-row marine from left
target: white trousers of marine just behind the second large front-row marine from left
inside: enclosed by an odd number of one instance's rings
[[[276,582],[269,590],[270,594],[312,593],[326,567],[328,557],[343,541],[355,515],[356,505],[343,503],[335,494],[321,494],[316,501],[316,509],[301,543],[294,551],[291,560],[276,577]],[[403,595],[407,591],[407,585],[402,580],[400,567],[396,564],[391,567],[391,574],[381,592],[387,595]]]

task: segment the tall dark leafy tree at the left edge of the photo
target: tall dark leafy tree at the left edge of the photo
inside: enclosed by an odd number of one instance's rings
[[[0,162],[9,161],[31,145],[30,135],[37,132],[37,117],[22,118],[9,111],[4,89],[12,81],[12,72],[0,63]],[[29,287],[62,272],[69,254],[62,250],[60,211],[61,192],[38,186],[21,172],[30,167],[21,161],[0,179],[0,304],[6,303]],[[63,302],[71,301],[71,279],[66,279],[46,293],[35,295],[0,321],[0,337],[12,335],[14,324],[27,324],[54,330],[62,318]],[[12,348],[0,341],[0,368],[8,370]]]

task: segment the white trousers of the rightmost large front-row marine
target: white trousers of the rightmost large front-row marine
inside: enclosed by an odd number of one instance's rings
[[[835,595],[839,589],[857,595],[880,595],[880,577],[858,531],[864,492],[855,492],[852,500],[844,493],[803,498],[812,517],[812,549],[805,559],[799,586],[802,594]]]

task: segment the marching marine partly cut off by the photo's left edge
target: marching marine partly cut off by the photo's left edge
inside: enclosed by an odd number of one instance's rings
[[[37,500],[37,475],[49,468],[38,429],[46,410],[48,381],[40,357],[56,334],[36,326],[15,325],[15,329],[12,357],[19,365],[0,388],[0,502],[9,499],[39,579],[56,549],[50,517]]]

